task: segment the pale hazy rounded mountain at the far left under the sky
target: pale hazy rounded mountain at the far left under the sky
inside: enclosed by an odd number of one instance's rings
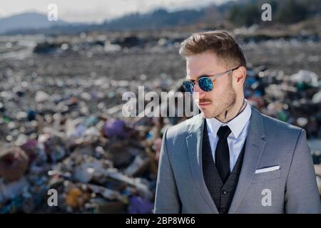
[[[26,12],[16,14],[6,18],[0,18],[0,34],[9,31],[19,31],[24,29],[50,28],[51,26],[66,26],[67,22],[49,21],[46,14],[36,12]]]

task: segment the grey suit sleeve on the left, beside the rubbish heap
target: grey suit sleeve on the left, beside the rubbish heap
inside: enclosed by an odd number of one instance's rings
[[[167,131],[168,130],[166,130],[163,135],[163,142],[158,165],[154,212],[157,214],[178,214],[180,213],[181,206],[173,170],[170,165],[166,147]]]

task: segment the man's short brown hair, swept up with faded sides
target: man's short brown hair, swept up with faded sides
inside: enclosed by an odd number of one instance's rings
[[[227,31],[206,31],[193,33],[180,43],[180,56],[188,57],[211,51],[218,57],[218,61],[227,68],[244,66],[246,60],[242,49],[234,36]]]

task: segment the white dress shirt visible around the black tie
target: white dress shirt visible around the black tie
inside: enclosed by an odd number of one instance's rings
[[[250,117],[252,110],[250,104],[246,102],[246,107],[238,116],[230,120],[228,123],[221,123],[216,118],[206,118],[208,130],[208,138],[210,140],[210,149],[212,150],[213,160],[215,162],[215,149],[218,145],[218,129],[220,126],[228,125],[231,130],[228,135],[228,150],[230,150],[230,172],[232,172],[238,155],[243,148],[246,137],[248,136],[248,128],[250,126]]]

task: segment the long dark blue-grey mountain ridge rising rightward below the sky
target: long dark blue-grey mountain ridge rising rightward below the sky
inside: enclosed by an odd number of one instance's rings
[[[104,21],[102,24],[49,24],[49,27],[42,28],[28,27],[11,28],[6,30],[6,35],[14,34],[59,34],[59,33],[80,33],[82,31],[124,31],[124,30],[144,30],[144,29],[159,29],[170,28],[175,26],[185,26],[196,24],[202,21],[208,14],[205,9],[185,9],[180,11],[168,12],[165,9],[157,9],[148,14],[128,14],[121,16],[118,19]],[[44,20],[44,19],[41,19]],[[46,21],[48,21],[46,19]],[[48,21],[51,22],[51,21]],[[58,21],[54,21],[58,22]],[[0,19],[1,26],[1,19]],[[6,25],[7,26],[7,25]],[[0,29],[1,34],[1,29]]]

